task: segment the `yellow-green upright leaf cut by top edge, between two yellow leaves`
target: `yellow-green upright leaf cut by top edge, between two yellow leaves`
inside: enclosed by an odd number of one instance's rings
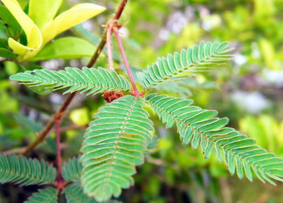
[[[30,0],[29,16],[41,29],[55,17],[61,4],[62,0]]]

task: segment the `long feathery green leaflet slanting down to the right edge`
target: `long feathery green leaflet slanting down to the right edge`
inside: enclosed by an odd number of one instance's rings
[[[252,181],[252,171],[265,183],[276,185],[273,180],[283,182],[283,160],[273,153],[254,145],[256,141],[247,138],[233,128],[224,127],[228,118],[216,118],[216,111],[190,106],[191,99],[150,94],[146,97],[149,105],[166,127],[177,124],[183,145],[191,143],[193,149],[201,145],[205,158],[210,156],[212,147],[225,163],[232,175]]]

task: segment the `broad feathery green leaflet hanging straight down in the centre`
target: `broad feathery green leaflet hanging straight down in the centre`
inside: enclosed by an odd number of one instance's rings
[[[84,193],[97,201],[118,197],[133,185],[135,165],[144,162],[152,121],[145,100],[127,95],[100,108],[84,134],[80,160]]]

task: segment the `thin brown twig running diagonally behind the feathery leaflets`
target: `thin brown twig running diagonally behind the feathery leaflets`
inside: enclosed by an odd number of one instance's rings
[[[113,17],[113,20],[119,20],[120,19],[121,14],[122,14],[127,2],[128,2],[128,0],[122,0],[120,2],[120,5],[119,5],[119,7],[118,7],[118,9],[115,13],[115,16]],[[95,50],[95,52],[94,52],[90,62],[88,63],[87,67],[92,67],[95,64],[95,62],[97,61],[98,56],[100,55],[102,49],[105,46],[106,36],[107,36],[107,30],[105,30],[105,32],[104,32],[104,34],[101,38],[101,41],[100,41],[97,49]],[[55,115],[61,114],[62,112],[64,112],[67,109],[67,107],[70,105],[72,99],[74,98],[75,94],[76,94],[76,92],[73,92],[73,93],[70,93],[67,96],[63,105],[61,106],[59,111],[56,112]],[[26,155],[26,154],[30,153],[39,143],[41,143],[47,137],[48,132],[51,130],[51,128],[54,126],[54,124],[55,124],[55,120],[54,120],[54,118],[51,118],[51,120],[47,123],[47,125],[44,127],[44,129],[39,132],[37,139],[25,148],[22,155]]]

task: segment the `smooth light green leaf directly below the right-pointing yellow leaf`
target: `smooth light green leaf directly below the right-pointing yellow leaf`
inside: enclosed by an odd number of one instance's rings
[[[76,37],[66,37],[55,40],[53,43],[46,45],[30,61],[48,60],[51,58],[80,58],[92,56],[95,46],[86,40]]]

